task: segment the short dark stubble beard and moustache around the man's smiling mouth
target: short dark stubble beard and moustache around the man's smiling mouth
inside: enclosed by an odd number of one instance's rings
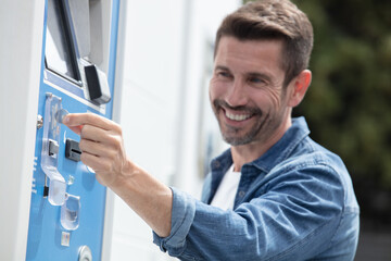
[[[223,120],[219,117],[220,113],[225,114],[225,109],[227,108],[232,111],[237,112],[244,112],[247,114],[250,114],[251,117],[254,121],[253,125],[250,127],[250,129],[243,129],[242,127],[235,127],[228,124],[225,124]],[[260,136],[263,125],[265,122],[267,122],[267,119],[264,119],[262,121],[263,112],[260,108],[252,108],[252,107],[230,107],[227,102],[223,100],[214,100],[213,101],[213,111],[215,113],[215,116],[217,119],[220,133],[223,135],[224,140],[231,145],[231,146],[240,146],[240,145],[247,145],[257,139]],[[266,116],[267,117],[267,116]]]

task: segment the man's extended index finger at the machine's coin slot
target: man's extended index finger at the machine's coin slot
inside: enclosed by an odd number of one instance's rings
[[[76,127],[84,125],[96,126],[105,130],[111,129],[112,122],[105,117],[93,113],[70,113],[63,119],[63,124],[67,127]]]

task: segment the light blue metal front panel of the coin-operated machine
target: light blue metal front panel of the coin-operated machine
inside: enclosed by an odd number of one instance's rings
[[[110,61],[108,80],[113,96],[115,57],[118,27],[119,0],[113,0]],[[47,15],[47,11],[46,11]],[[46,22],[45,26],[46,28]],[[43,39],[46,33],[43,33]],[[39,90],[38,114],[45,115],[46,94],[51,92],[62,98],[62,107],[70,113],[93,112],[105,117],[112,117],[112,102],[105,104],[104,114],[97,110],[92,103],[84,97],[83,90],[66,79],[45,69],[45,40],[42,47],[41,83]],[[45,121],[45,119],[43,119]],[[100,185],[94,174],[81,162],[75,162],[65,158],[65,140],[67,138],[79,140],[79,136],[71,129],[61,126],[60,150],[58,170],[65,178],[67,192],[80,197],[79,226],[75,231],[66,231],[60,223],[61,207],[52,206],[43,197],[46,174],[40,166],[42,150],[42,128],[37,129],[35,149],[35,170],[31,192],[28,241],[26,260],[78,260],[78,251],[81,246],[87,245],[92,252],[93,260],[101,260],[105,187]],[[64,236],[65,235],[65,236]],[[68,235],[68,246],[63,246],[62,239]],[[65,244],[66,245],[66,244]]]

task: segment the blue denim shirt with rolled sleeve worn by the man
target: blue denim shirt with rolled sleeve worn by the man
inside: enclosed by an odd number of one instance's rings
[[[210,206],[232,164],[212,161],[202,201],[173,190],[172,231],[154,243],[180,260],[353,260],[358,204],[341,159],[314,142],[304,117],[241,169],[234,210]]]

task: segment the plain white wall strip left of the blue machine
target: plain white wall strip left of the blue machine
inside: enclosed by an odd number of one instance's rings
[[[0,4],[0,258],[25,260],[45,1]]]

